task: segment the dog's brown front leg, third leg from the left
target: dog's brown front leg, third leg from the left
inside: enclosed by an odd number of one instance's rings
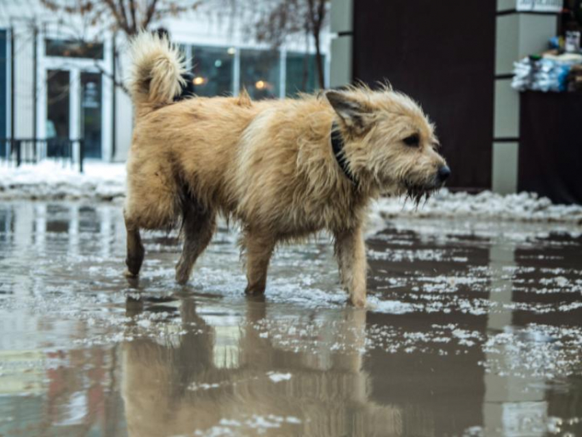
[[[267,284],[269,260],[275,249],[275,238],[247,231],[244,235],[246,251],[247,295],[262,295]]]

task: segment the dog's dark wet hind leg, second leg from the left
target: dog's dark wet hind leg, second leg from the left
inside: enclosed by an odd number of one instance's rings
[[[216,229],[216,214],[203,208],[196,201],[188,200],[184,204],[182,220],[184,248],[176,265],[176,281],[179,284],[186,284],[190,279],[194,262],[212,240],[212,234]]]

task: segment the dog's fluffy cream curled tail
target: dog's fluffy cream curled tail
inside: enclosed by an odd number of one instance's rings
[[[140,109],[160,108],[172,103],[186,81],[184,56],[164,36],[141,32],[131,41],[131,73],[127,86]]]

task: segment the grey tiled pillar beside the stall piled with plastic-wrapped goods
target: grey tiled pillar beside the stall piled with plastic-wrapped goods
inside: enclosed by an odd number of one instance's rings
[[[557,32],[557,14],[517,12],[516,0],[497,0],[492,189],[518,189],[519,92],[511,88],[514,62],[540,53]]]

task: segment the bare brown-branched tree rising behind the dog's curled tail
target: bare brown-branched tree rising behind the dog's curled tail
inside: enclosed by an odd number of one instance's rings
[[[77,18],[84,27],[94,27],[99,31],[122,34],[127,39],[142,29],[150,29],[163,18],[195,10],[202,0],[40,0],[45,8],[61,16]],[[103,32],[97,32],[100,36]],[[93,42],[85,32],[78,32],[76,39],[82,43]],[[114,62],[119,66],[119,53],[114,51]],[[99,71],[109,77],[114,84],[127,92],[118,75],[105,71],[97,62]]]

